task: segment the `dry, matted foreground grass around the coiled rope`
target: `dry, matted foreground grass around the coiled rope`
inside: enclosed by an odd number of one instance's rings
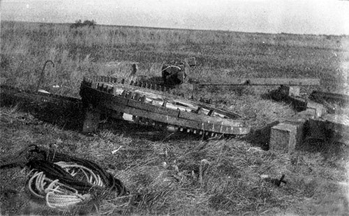
[[[260,151],[236,139],[151,141],[106,125],[85,137],[14,108],[1,108],[0,118],[1,154],[26,144],[53,146],[98,162],[131,191],[125,197],[111,194],[97,212],[84,206],[68,215],[87,214],[87,209],[93,215],[346,215],[348,210],[346,146],[304,147],[288,155]],[[27,173],[1,170],[1,213],[62,214],[29,199]],[[260,178],[283,173],[287,184],[281,187]]]

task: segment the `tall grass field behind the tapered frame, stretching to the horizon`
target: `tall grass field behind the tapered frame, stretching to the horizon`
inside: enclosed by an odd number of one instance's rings
[[[83,75],[117,70],[105,67],[107,62],[135,61],[140,75],[159,75],[164,61],[195,56],[199,65],[192,77],[322,78],[324,90],[343,91],[348,41],[346,36],[1,22],[1,84],[33,90],[50,59],[57,66],[47,68],[43,88],[76,96]]]

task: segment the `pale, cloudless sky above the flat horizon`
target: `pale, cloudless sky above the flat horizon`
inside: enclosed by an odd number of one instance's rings
[[[349,35],[348,0],[1,0],[1,20]]]

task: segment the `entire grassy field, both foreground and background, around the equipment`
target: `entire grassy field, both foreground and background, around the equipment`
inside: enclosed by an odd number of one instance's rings
[[[139,63],[139,75],[160,76],[161,64],[195,56],[189,77],[219,82],[242,77],[320,78],[306,87],[348,93],[349,36],[238,33],[1,22],[0,83],[79,97],[84,75],[119,75]],[[242,114],[252,129],[290,118],[295,111],[263,97],[269,87],[196,89],[217,107]],[[26,169],[0,171],[1,215],[348,215],[349,149],[337,143],[304,144],[292,155],[261,151],[239,139],[202,140],[119,121],[101,125],[93,136],[80,128],[42,121],[17,107],[0,108],[1,155],[27,144],[53,146],[94,160],[122,180],[131,195],[104,199],[98,211],[70,212],[29,199]],[[122,146],[117,153],[112,151]],[[205,171],[200,175],[200,167]],[[261,180],[267,174],[286,185]]]

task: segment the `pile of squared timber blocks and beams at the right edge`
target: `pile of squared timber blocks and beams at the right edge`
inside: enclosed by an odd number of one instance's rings
[[[292,153],[304,141],[313,140],[349,144],[349,118],[346,114],[334,114],[339,106],[348,105],[348,95],[314,91],[312,100],[308,100],[299,97],[299,91],[292,88],[281,86],[274,95],[274,99],[291,102],[299,113],[271,128],[271,150]]]

